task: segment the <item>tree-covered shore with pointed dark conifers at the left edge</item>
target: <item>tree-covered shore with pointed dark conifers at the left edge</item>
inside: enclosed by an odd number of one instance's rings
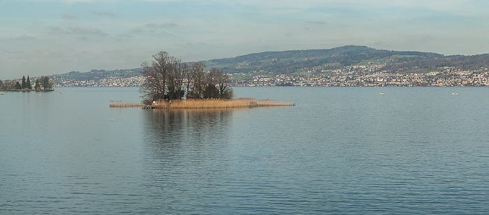
[[[48,76],[42,76],[41,78],[36,78],[36,83],[34,88],[31,84],[31,78],[27,75],[27,78],[22,76],[19,80],[8,80],[3,82],[0,80],[0,91],[19,91],[19,92],[30,92],[30,91],[54,91],[52,89],[52,81]]]

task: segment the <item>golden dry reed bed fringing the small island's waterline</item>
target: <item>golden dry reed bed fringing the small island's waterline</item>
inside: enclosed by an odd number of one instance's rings
[[[184,108],[241,108],[241,107],[272,107],[272,106],[294,106],[293,103],[272,101],[269,99],[255,100],[254,98],[238,98],[231,100],[219,99],[187,99],[174,100],[171,102],[158,101],[154,108],[161,109],[184,109]],[[110,107],[145,107],[140,103],[123,103],[122,101],[110,101]]]

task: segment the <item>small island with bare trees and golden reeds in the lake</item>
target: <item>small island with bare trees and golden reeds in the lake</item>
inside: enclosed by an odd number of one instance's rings
[[[154,54],[153,58],[151,63],[141,64],[141,74],[145,77],[140,87],[142,103],[110,101],[110,107],[182,109],[294,106],[293,103],[268,99],[233,99],[231,81],[219,68],[205,71],[203,62],[187,64],[167,52]]]

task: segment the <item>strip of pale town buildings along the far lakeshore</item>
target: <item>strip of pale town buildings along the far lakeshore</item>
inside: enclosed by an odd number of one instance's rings
[[[465,71],[461,68],[439,68],[437,72],[382,71],[383,65],[351,66],[337,70],[305,74],[253,75],[228,74],[233,87],[488,87],[488,68]],[[263,71],[261,71],[263,72]],[[263,74],[263,73],[261,73]],[[105,77],[99,80],[68,80],[61,75],[50,76],[54,87],[140,87],[143,76]],[[240,78],[236,78],[240,77]]]

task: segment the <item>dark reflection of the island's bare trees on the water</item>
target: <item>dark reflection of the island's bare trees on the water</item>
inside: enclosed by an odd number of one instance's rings
[[[205,156],[225,147],[232,110],[146,110],[145,145],[152,158]]]

